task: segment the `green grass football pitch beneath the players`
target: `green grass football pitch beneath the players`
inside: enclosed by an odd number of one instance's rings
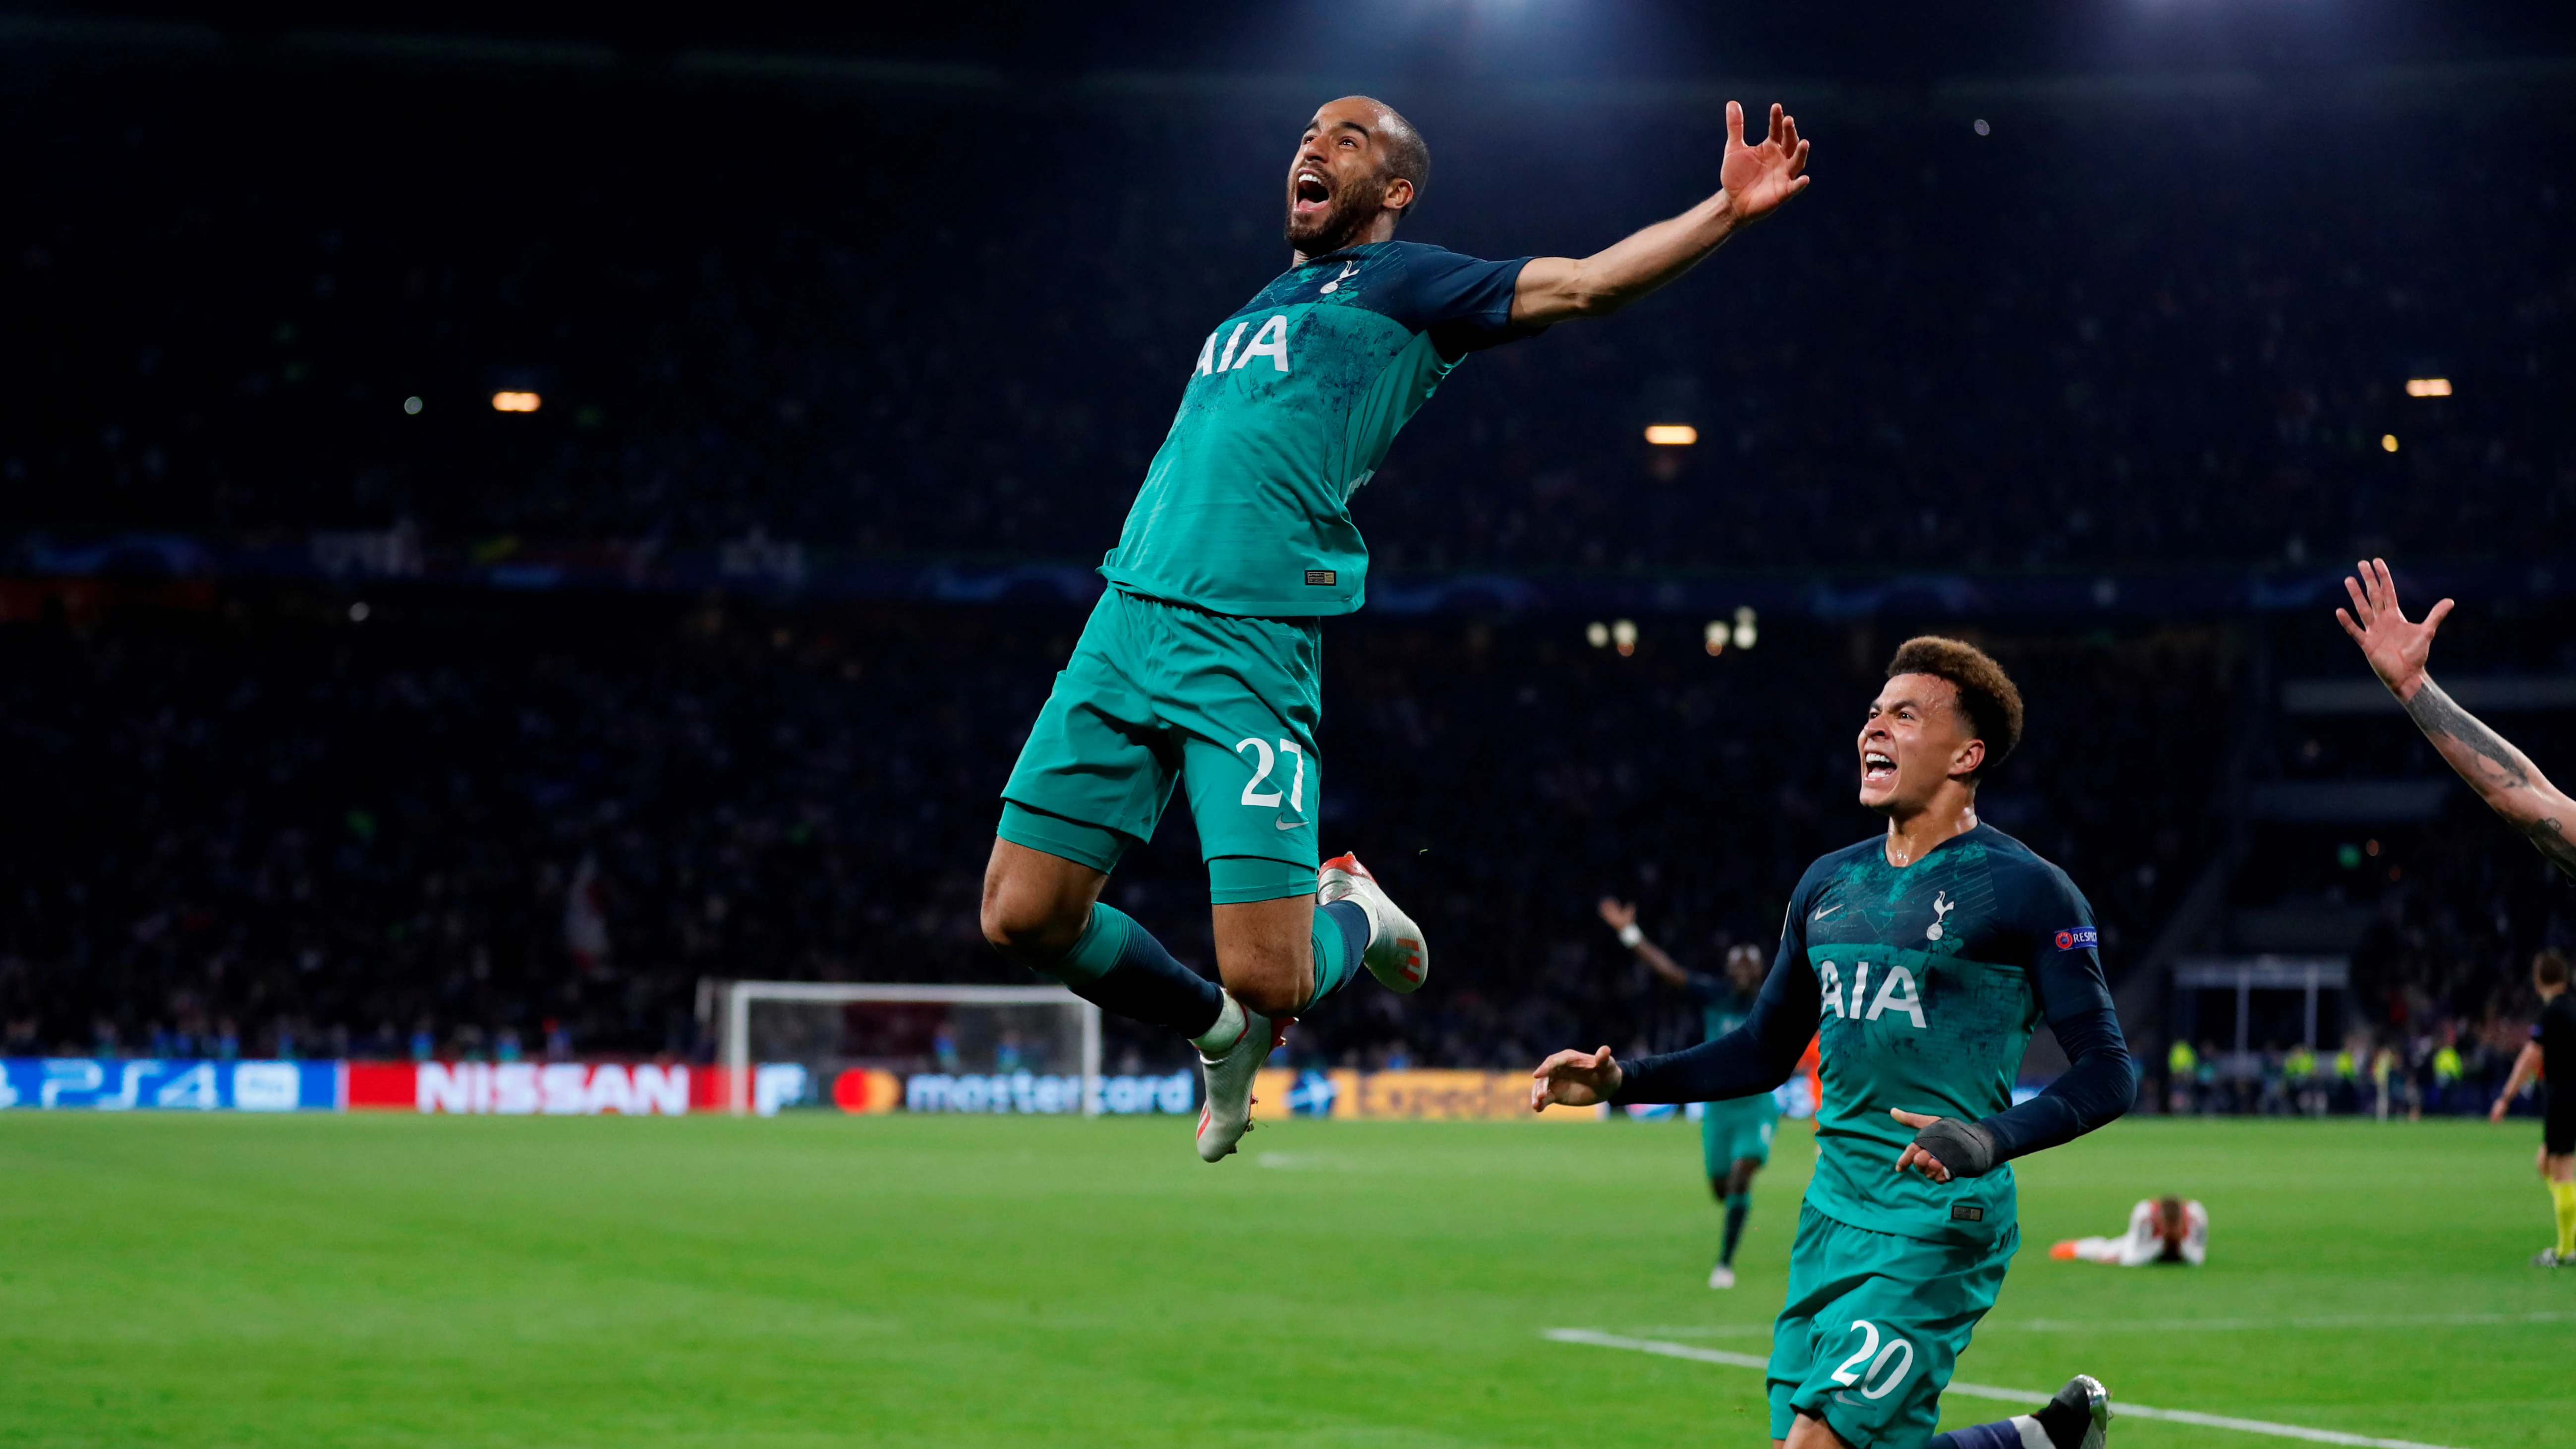
[[[2524,1266],[2532,1140],[2123,1122],[2022,1165],[2025,1250],[1958,1377],[2576,1444],[2576,1274]],[[1182,1119],[5,1114],[0,1444],[1765,1441],[1759,1372],[1540,1330],[1765,1351],[1803,1127],[1723,1294],[1680,1124],[1280,1122],[1247,1147],[1200,1165]],[[2154,1191],[2208,1201],[2208,1269],[2048,1261]]]

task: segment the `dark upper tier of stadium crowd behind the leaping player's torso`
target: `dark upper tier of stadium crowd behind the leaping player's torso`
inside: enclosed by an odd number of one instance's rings
[[[10,523],[412,521],[482,549],[1097,557],[1206,327],[1283,260],[1303,121],[402,70],[21,80],[0,106],[57,144],[0,217]],[[1406,237],[1481,255],[1669,214],[1721,139],[1656,106],[1422,121],[1440,180]],[[2156,147],[2032,106],[1976,131],[1824,103],[1808,131],[1816,188],[1777,227],[1448,384],[1358,500],[1381,565],[2576,544],[2563,98],[2439,126],[2195,106]],[[2406,397],[2427,374],[2455,392]],[[544,407],[497,415],[495,389]],[[1700,443],[1649,449],[1643,423]]]

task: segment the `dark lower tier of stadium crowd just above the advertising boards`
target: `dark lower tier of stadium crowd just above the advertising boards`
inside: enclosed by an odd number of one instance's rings
[[[685,1055],[706,1044],[701,977],[1012,980],[976,890],[1079,614],[335,608],[0,627],[23,779],[0,843],[13,1049]],[[1306,1060],[1672,1042],[1687,1011],[1592,900],[1638,895],[1685,959],[1713,959],[1772,931],[1814,853],[1870,830],[1847,802],[1852,722],[1893,645],[1870,629],[1783,627],[1721,657],[1651,621],[1633,657],[1535,621],[1360,619],[1327,639],[1345,701],[1324,722],[1327,843],[1414,902],[1443,990],[1327,1003],[1298,1029]],[[2187,768],[2179,724],[2223,709],[2226,681],[2187,637],[2012,657],[2038,727],[1989,817],[2076,871],[2133,949],[2213,807],[2151,781]],[[2112,686],[2151,709],[2079,766],[2084,694]],[[2151,802],[2143,828],[2123,799]],[[1185,820],[1110,890],[1213,964]]]

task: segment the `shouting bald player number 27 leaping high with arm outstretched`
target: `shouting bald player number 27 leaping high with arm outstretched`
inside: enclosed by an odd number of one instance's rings
[[[1803,170],[1790,116],[1772,106],[1744,144],[1728,103],[1716,196],[1589,258],[1473,260],[1394,240],[1430,178],[1412,121],[1365,95],[1306,121],[1288,271],[1200,343],[984,869],[984,936],[1005,957],[1198,1047],[1200,1158],[1247,1132],[1252,1073],[1298,1013],[1360,964],[1399,993],[1430,972],[1422,928],[1358,859],[1316,871],[1321,616],[1358,608],[1368,570],[1350,495],[1466,353],[1618,312],[1780,209]],[[1224,987],[1100,905],[1175,784]]]

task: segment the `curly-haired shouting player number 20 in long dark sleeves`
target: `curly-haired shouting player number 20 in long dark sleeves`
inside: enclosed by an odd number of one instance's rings
[[[1772,1325],[1772,1441],[1788,1449],[2099,1449],[2110,1395],[2076,1374],[2030,1415],[1932,1436],[1940,1390],[2020,1248],[2012,1158],[2128,1111],[2094,920],[2066,871],[1981,825],[1976,786],[2022,737],[2022,696],[1984,652],[1909,639],[1860,727],[1878,838],[1806,869],[1780,957],[1741,1026],[1687,1052],[1610,1047],[1538,1065],[1530,1106],[1728,1101],[1824,1049],[1816,1176]],[[2012,1106],[2040,1018],[2069,1067]]]

